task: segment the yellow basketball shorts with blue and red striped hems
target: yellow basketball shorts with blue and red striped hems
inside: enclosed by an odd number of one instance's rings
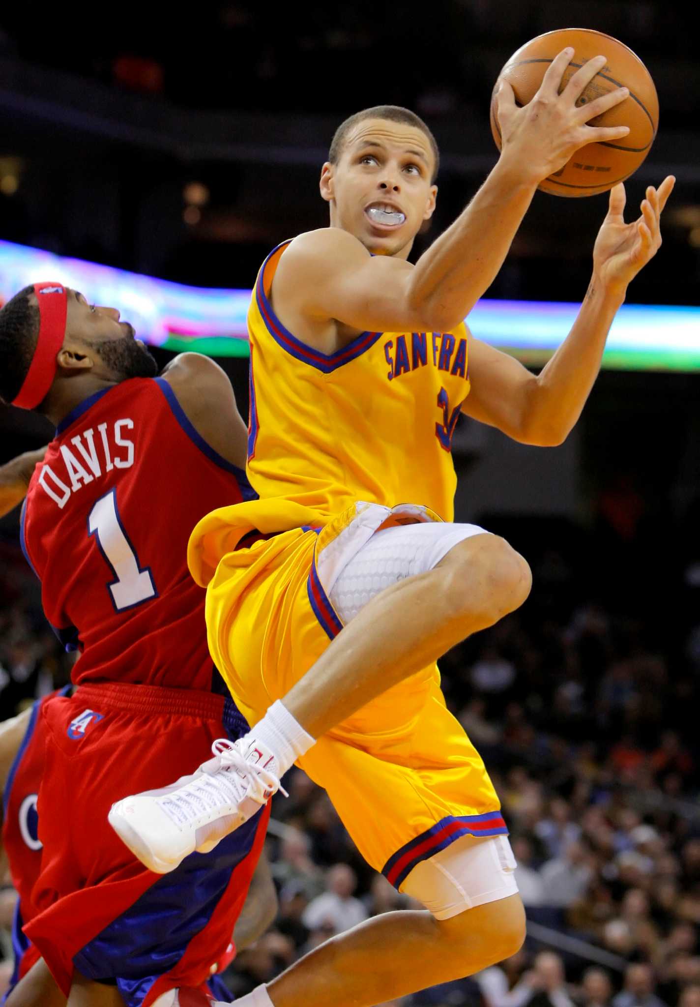
[[[426,520],[438,519],[358,503],[320,532],[282,532],[222,557],[206,592],[209,650],[250,724],[340,632],[328,595],[343,565],[380,528]],[[483,762],[445,707],[436,665],[319,738],[298,765],[397,888],[459,837],[508,832]]]

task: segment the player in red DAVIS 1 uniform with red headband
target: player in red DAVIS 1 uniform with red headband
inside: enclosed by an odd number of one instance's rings
[[[116,309],[58,283],[25,288],[0,311],[0,396],[56,424],[29,483],[22,547],[49,622],[81,652],[75,694],[37,714],[43,851],[24,927],[71,1007],[160,1007],[185,987],[203,995],[269,814],[167,878],[107,825],[115,799],[162,785],[216,738],[247,730],[217,694],[204,594],[185,561],[199,518],[252,495],[239,467],[246,426],[206,357],[183,354],[155,374]]]

